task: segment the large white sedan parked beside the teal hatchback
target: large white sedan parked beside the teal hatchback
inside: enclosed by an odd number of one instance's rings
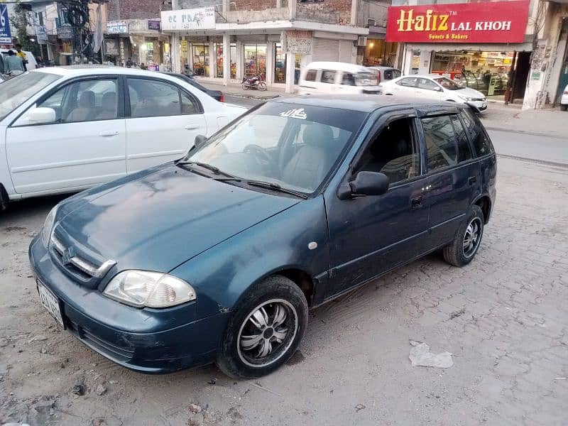
[[[39,68],[0,86],[0,210],[182,157],[246,109],[176,77],[97,65]]]

